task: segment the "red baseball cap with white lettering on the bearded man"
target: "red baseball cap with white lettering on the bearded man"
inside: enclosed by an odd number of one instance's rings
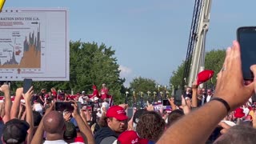
[[[106,117],[117,118],[119,121],[126,120],[126,111],[123,110],[121,106],[111,106],[109,110],[106,111]]]

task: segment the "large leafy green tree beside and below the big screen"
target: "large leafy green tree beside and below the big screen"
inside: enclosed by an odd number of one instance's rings
[[[102,83],[106,83],[115,102],[124,102],[121,92],[125,79],[120,78],[118,60],[114,54],[115,50],[104,44],[98,46],[95,42],[70,42],[70,81],[34,82],[34,90],[38,92],[46,88],[50,91],[51,87],[55,87],[56,90],[73,90],[74,93],[85,90],[91,94],[93,85],[100,90]],[[22,86],[22,82],[12,82],[13,92],[18,86]]]

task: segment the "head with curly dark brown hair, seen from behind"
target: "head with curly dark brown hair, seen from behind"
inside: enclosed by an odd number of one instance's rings
[[[139,118],[136,131],[140,138],[157,142],[165,130],[165,126],[166,122],[160,114],[155,111],[148,111]]]

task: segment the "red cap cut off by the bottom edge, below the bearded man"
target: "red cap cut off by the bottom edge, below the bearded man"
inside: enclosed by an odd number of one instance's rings
[[[147,139],[139,138],[134,130],[127,130],[119,135],[118,142],[122,144],[147,144],[149,141]]]

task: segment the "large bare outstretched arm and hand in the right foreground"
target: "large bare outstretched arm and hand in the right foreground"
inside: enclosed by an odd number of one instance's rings
[[[214,98],[222,98],[228,103],[230,110],[234,110],[248,101],[254,93],[254,85],[256,85],[256,82],[252,82],[245,86],[240,55],[239,44],[234,41],[232,48],[226,50],[224,68],[218,73],[218,82],[214,93]],[[250,69],[256,75],[256,65],[251,66]],[[226,116],[227,110],[228,107],[223,102],[210,101],[170,126],[158,143],[204,143],[218,122]]]

